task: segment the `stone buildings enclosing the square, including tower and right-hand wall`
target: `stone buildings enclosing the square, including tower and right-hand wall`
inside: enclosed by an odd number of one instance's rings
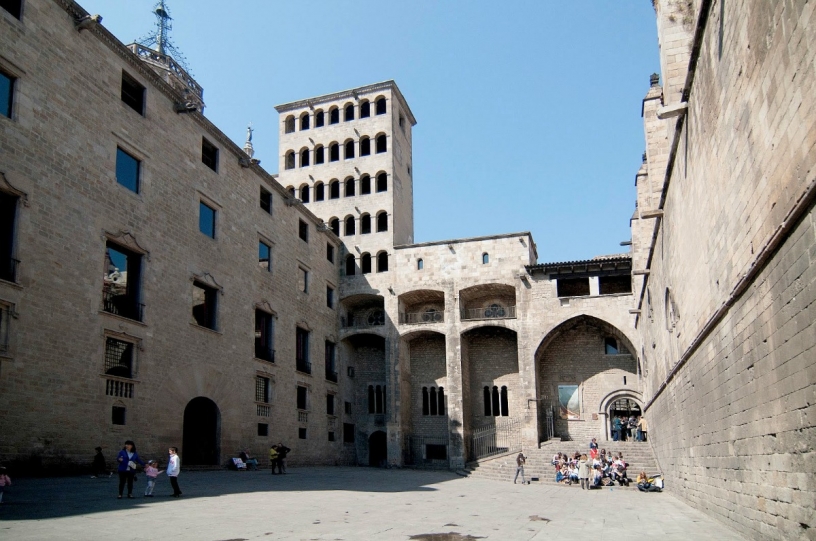
[[[644,413],[675,494],[812,537],[816,15],[652,3],[631,251],[551,263],[414,242],[393,81],[278,106],[270,175],[171,57],[1,4],[0,458],[460,468]]]

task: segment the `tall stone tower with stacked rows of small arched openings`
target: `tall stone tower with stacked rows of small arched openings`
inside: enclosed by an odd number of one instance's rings
[[[343,239],[344,275],[387,272],[394,245],[414,238],[411,129],[416,120],[396,83],[275,109],[280,183]]]

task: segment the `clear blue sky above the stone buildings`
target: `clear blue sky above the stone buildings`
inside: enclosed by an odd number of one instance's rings
[[[124,43],[155,0],[81,0]],[[280,103],[394,79],[416,242],[531,231],[539,262],[625,251],[659,70],[648,0],[168,0],[205,114],[277,172]]]

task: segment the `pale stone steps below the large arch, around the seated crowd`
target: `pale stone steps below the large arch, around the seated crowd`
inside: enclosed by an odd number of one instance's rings
[[[641,471],[646,471],[648,475],[660,473],[657,461],[655,460],[652,448],[648,443],[641,442],[602,442],[602,448],[607,453],[623,453],[623,459],[629,463],[627,474],[633,481]],[[541,444],[539,449],[525,449],[524,456],[527,463],[524,466],[524,475],[528,481],[537,479],[542,484],[555,483],[555,468],[551,461],[554,454],[558,452],[573,454],[575,451],[586,452],[589,456],[589,449],[578,447],[573,441],[549,441]],[[492,479],[494,481],[512,481],[516,474],[516,456],[518,453],[510,453],[498,457],[470,462],[462,471],[463,475],[478,479]],[[634,485],[633,485],[634,486]]]

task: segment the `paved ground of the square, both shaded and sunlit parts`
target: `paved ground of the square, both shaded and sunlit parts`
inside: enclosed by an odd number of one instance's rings
[[[588,492],[448,472],[183,472],[178,500],[164,475],[154,498],[142,496],[140,476],[133,500],[116,499],[115,477],[13,481],[0,504],[0,539],[16,541],[741,539],[668,492]],[[453,532],[459,535],[428,535]]]

